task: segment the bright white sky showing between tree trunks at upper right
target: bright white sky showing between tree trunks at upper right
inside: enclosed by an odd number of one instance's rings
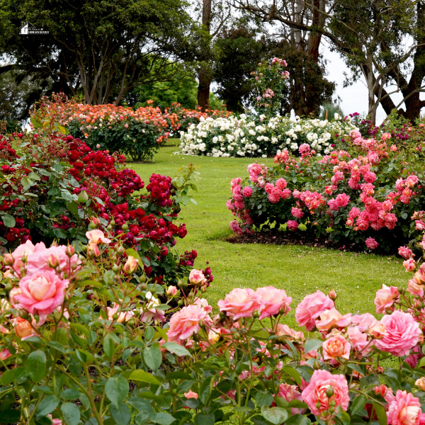
[[[324,56],[324,59],[328,61],[326,67],[328,72],[327,79],[336,83],[335,95],[341,98],[341,109],[344,114],[348,115],[349,113],[353,112],[367,113],[368,89],[366,87],[364,79],[361,78],[352,86],[344,88],[344,72],[347,72],[349,74],[349,70],[346,67],[346,64],[344,64],[344,60],[341,59],[338,53],[331,52],[327,45],[322,45],[322,55]],[[401,94],[392,94],[391,98],[395,102],[395,104],[398,104],[400,101],[402,101]],[[380,123],[382,123],[386,116],[387,114],[382,109],[382,106],[378,106],[378,111],[376,114],[376,124],[379,125]]]

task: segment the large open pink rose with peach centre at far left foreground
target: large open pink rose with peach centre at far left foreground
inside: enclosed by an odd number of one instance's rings
[[[40,319],[45,319],[56,307],[64,302],[64,291],[69,281],[62,280],[54,271],[40,270],[25,276],[19,282],[22,295],[15,299],[30,314],[38,314]]]

